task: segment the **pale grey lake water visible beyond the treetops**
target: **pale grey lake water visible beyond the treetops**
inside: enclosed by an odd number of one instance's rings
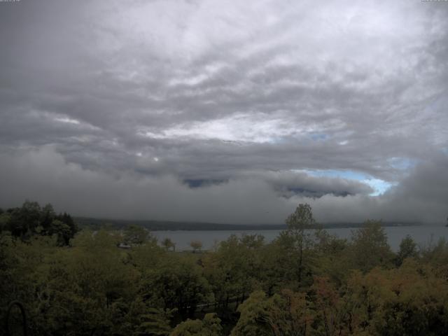
[[[330,228],[326,229],[331,235],[337,235],[339,238],[350,239],[351,231],[358,230],[358,228]],[[437,241],[444,237],[448,239],[448,228],[444,226],[435,225],[421,225],[421,226],[393,226],[384,228],[388,238],[388,244],[393,251],[398,251],[401,240],[409,235],[416,241],[419,246],[428,246],[429,244],[436,244]],[[269,242],[279,235],[280,230],[218,230],[218,231],[154,231],[153,235],[159,241],[165,238],[172,239],[176,244],[177,251],[191,250],[190,241],[199,240],[202,242],[202,249],[209,250],[218,244],[219,241],[228,239],[230,235],[263,235],[265,241]]]

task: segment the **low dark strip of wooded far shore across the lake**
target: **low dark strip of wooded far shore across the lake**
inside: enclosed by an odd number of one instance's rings
[[[181,221],[131,221],[120,219],[74,217],[80,228],[115,228],[123,229],[127,225],[141,225],[151,231],[241,231],[241,230],[284,230],[286,224],[222,224]],[[414,226],[416,222],[383,222],[383,226]],[[321,223],[320,228],[360,228],[363,223]]]

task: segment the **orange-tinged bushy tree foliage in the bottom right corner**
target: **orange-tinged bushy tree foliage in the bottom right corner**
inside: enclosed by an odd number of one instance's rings
[[[353,274],[344,299],[357,335],[447,335],[448,284],[415,262]]]

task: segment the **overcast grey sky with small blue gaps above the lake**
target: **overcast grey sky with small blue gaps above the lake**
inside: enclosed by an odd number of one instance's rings
[[[448,216],[447,1],[0,2],[0,207]]]

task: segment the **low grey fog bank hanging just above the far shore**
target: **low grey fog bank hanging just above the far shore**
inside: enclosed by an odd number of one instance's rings
[[[382,218],[443,223],[447,215],[446,155],[416,166],[384,195],[325,193],[320,197],[284,197],[269,174],[240,176],[218,185],[189,188],[174,176],[150,178],[132,172],[116,175],[94,172],[65,162],[52,147],[3,153],[0,160],[3,207],[17,206],[29,198],[51,202],[58,211],[80,216],[221,223],[283,223],[301,202],[310,203],[321,222]],[[334,180],[328,179],[328,188],[343,182]],[[307,188],[311,186],[309,180],[304,182],[308,183]],[[297,183],[296,179],[296,187]],[[324,182],[319,183],[317,191],[321,192]],[[368,191],[367,188],[363,191]]]

